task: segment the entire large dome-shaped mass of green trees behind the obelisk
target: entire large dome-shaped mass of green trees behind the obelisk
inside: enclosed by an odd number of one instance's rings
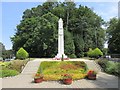
[[[58,20],[63,19],[65,53],[82,57],[89,48],[103,48],[104,21],[87,6],[74,2],[45,2],[23,12],[13,49],[23,47],[30,57],[54,57],[57,54]]]

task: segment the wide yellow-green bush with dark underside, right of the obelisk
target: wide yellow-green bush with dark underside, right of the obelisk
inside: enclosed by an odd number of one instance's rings
[[[91,58],[99,58],[103,55],[103,53],[99,48],[95,48],[94,50],[89,49],[87,55]]]

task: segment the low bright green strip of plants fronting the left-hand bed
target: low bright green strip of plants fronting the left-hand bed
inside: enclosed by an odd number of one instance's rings
[[[0,70],[0,77],[10,77],[18,75],[19,72],[16,70]]]

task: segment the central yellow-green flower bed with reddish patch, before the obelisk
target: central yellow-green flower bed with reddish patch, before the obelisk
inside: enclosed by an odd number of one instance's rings
[[[82,61],[44,61],[37,73],[44,75],[44,80],[60,80],[62,75],[70,74],[73,80],[86,76],[87,65]]]

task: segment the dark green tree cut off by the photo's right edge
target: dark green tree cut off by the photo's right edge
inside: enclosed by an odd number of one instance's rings
[[[112,18],[107,28],[108,50],[111,54],[120,54],[120,19]]]

